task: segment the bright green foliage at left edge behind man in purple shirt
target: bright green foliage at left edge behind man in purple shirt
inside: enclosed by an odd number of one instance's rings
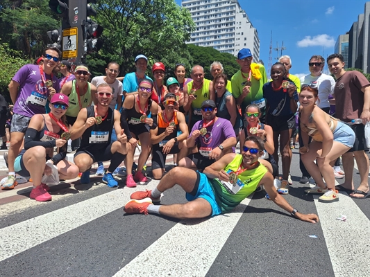
[[[11,102],[8,84],[15,73],[24,64],[31,62],[30,60],[24,60],[20,51],[15,51],[9,48],[9,45],[1,42],[0,40],[0,90],[1,94],[5,96],[8,102]]]

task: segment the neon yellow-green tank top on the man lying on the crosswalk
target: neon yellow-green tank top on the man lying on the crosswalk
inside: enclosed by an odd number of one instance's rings
[[[228,170],[233,170],[236,172],[239,169],[240,164],[243,161],[243,157],[241,154],[236,154],[235,158],[231,163],[226,166],[224,169],[226,172]],[[228,211],[233,210],[240,202],[243,201],[246,197],[249,197],[253,191],[258,187],[262,177],[267,172],[267,168],[265,168],[262,163],[252,170],[244,170],[241,174],[238,175],[238,178],[244,186],[236,193],[230,193],[222,184],[219,179],[208,179],[210,181],[210,185],[212,186],[216,202],[221,208],[222,213],[227,213]]]

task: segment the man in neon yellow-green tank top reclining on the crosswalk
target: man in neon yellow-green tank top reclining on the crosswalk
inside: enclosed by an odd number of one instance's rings
[[[174,168],[162,178],[154,190],[137,191],[124,206],[126,213],[155,213],[179,219],[203,218],[228,213],[258,186],[264,186],[271,199],[292,216],[307,222],[318,222],[314,214],[298,213],[276,192],[274,178],[258,161],[264,143],[256,136],[244,142],[242,154],[230,153],[216,161],[203,173],[187,168]],[[178,184],[185,190],[186,204],[154,205],[165,190]],[[149,197],[149,198],[148,198]]]

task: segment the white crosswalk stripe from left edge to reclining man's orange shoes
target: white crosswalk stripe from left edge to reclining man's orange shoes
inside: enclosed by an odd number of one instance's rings
[[[158,182],[151,181],[146,189],[155,188]],[[115,189],[111,193],[0,229],[0,233],[4,234],[0,236],[0,261],[122,208],[125,203],[123,199],[130,199],[131,193],[137,190],[142,190],[142,186]]]

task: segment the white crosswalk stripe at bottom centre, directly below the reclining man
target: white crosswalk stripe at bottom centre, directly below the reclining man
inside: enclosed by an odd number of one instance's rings
[[[115,277],[205,276],[252,197],[253,194],[244,199],[233,213],[179,222]]]

